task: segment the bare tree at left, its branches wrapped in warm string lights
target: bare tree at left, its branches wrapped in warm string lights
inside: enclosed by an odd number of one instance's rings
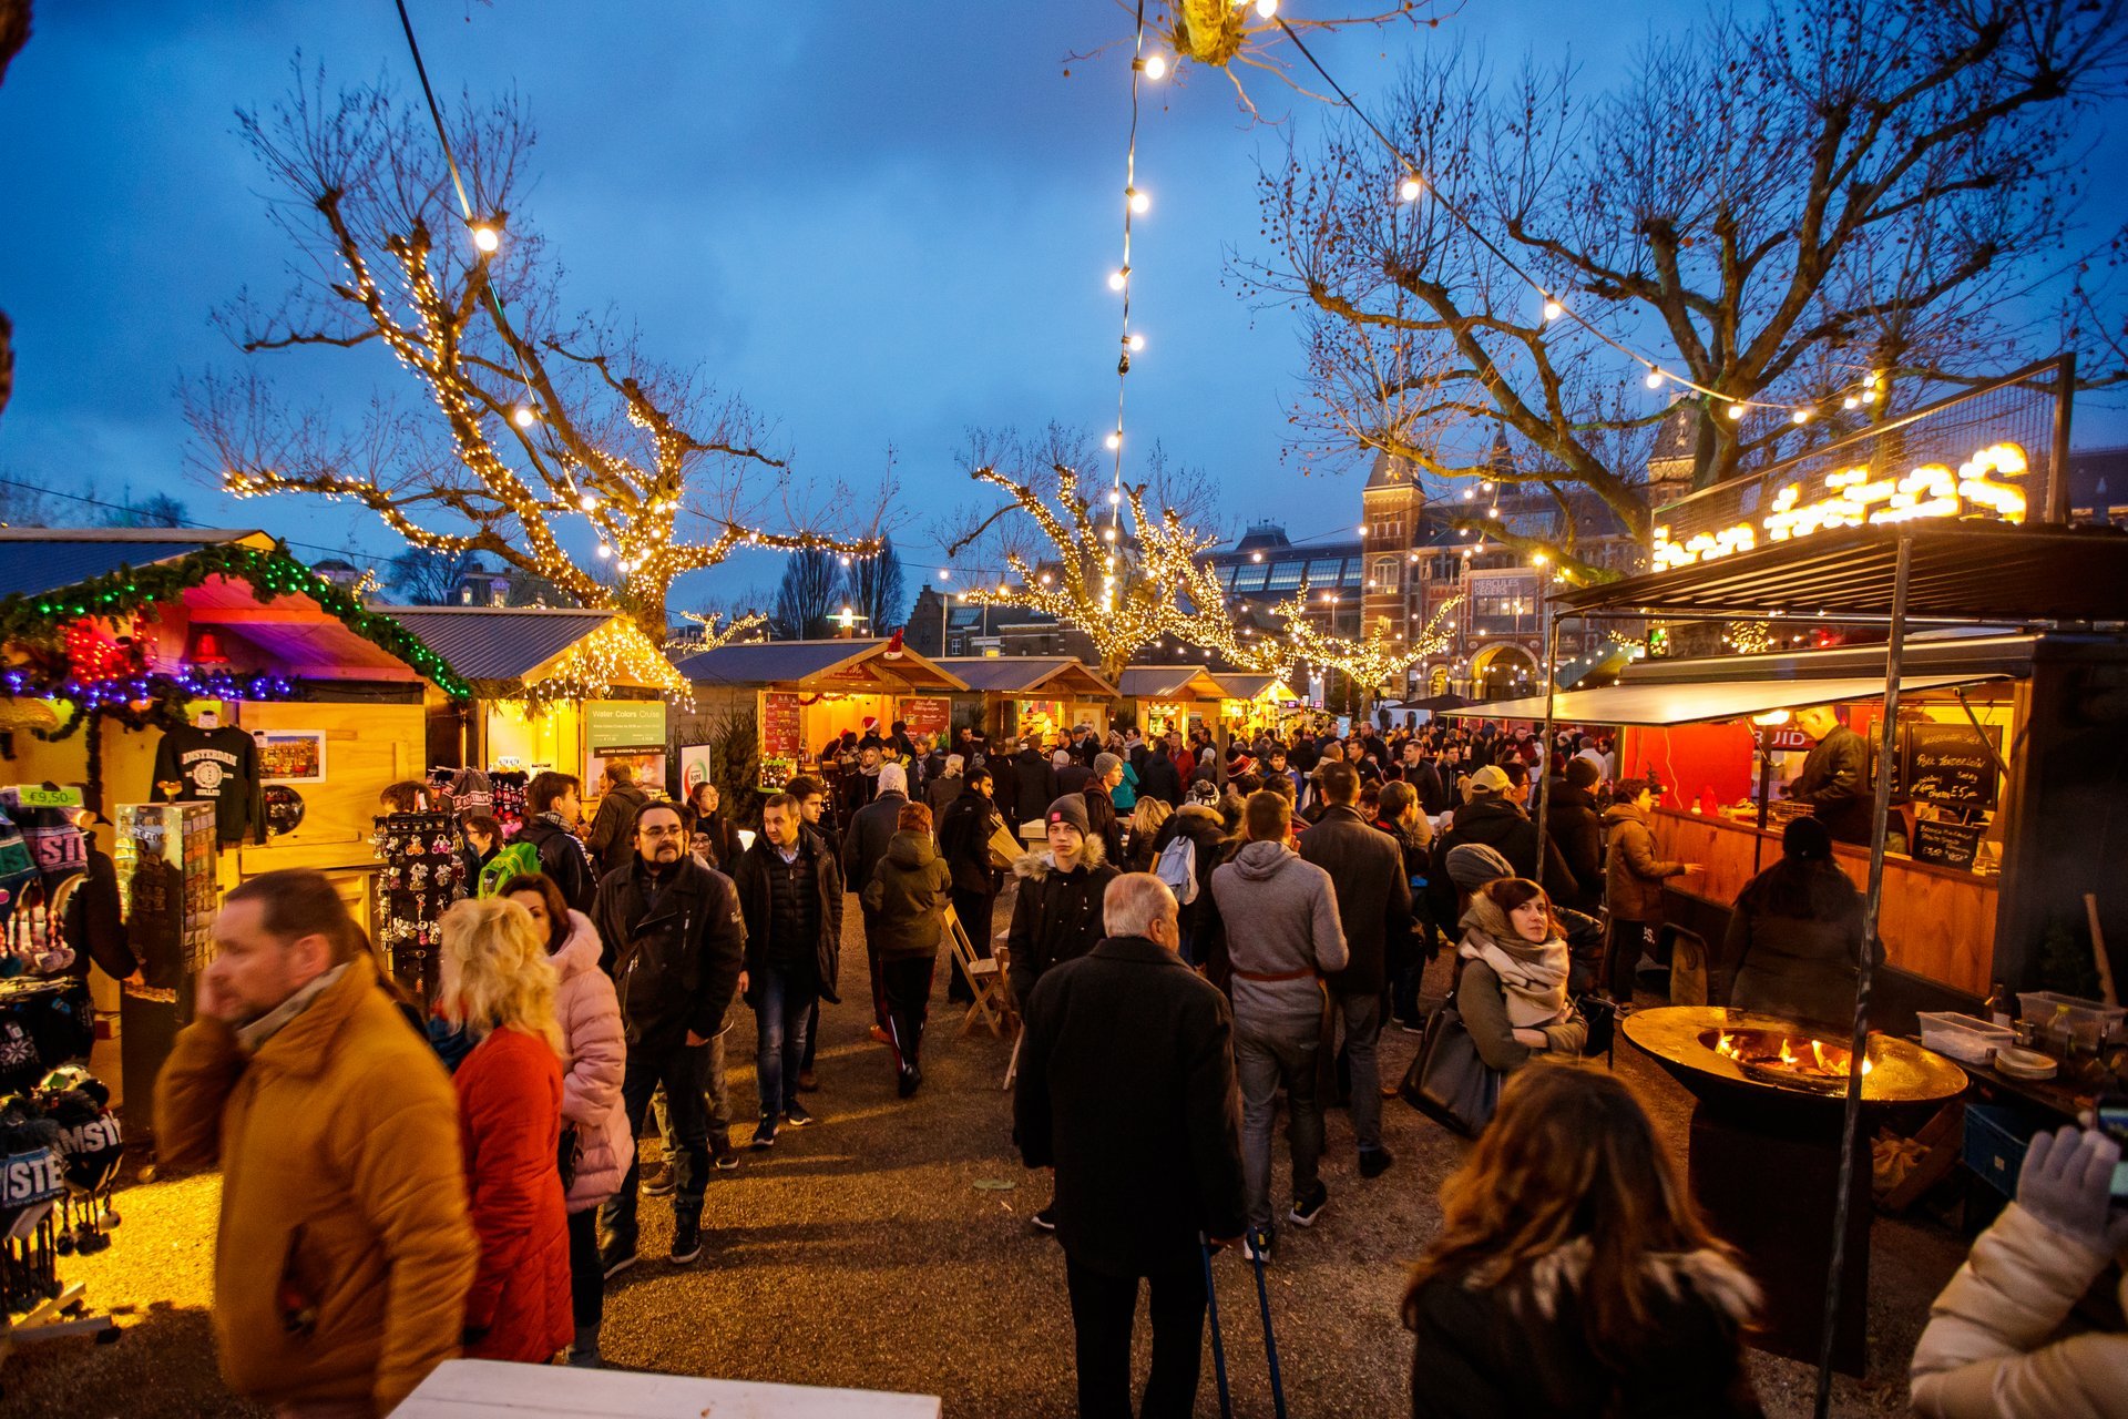
[[[513,98],[451,121],[472,223],[428,119],[383,83],[328,94],[298,62],[289,96],[238,113],[238,132],[298,262],[281,306],[238,298],[223,328],[251,355],[389,353],[421,402],[379,394],[349,428],[287,406],[255,368],[200,377],[196,462],[228,491],[353,500],[413,547],[487,553],[658,638],[672,581],[741,547],[870,549],[796,508],[738,398],[651,360],[613,317],[560,313],[560,268],[521,211],[534,134]],[[611,579],[564,545],[579,519]]]

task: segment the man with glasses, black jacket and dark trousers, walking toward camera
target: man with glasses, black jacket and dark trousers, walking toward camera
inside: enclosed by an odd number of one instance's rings
[[[592,921],[600,962],[621,998],[628,1064],[621,1106],[643,1132],[651,1094],[664,1085],[675,1142],[672,1264],[702,1255],[702,1191],[709,1185],[709,1045],[724,1032],[732,996],[745,989],[747,928],[732,879],[687,851],[687,828],[668,802],[643,804],[636,857],[598,883]],[[636,1262],[641,1162],[600,1211],[606,1276]]]

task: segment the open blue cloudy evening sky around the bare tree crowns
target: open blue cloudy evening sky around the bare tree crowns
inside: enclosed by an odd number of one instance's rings
[[[1126,9],[411,9],[440,91],[515,87],[530,102],[534,215],[568,268],[568,304],[611,302],[655,353],[700,362],[775,421],[800,474],[868,487],[896,447],[911,591],[936,566],[936,517],[979,496],[955,468],[966,428],[1102,428],[1113,415],[1117,313],[1102,279],[1119,253],[1128,45],[1070,66],[1064,55],[1126,40]],[[1311,9],[1330,6],[1287,4]],[[1683,0],[1473,2],[1439,30],[1315,45],[1366,102],[1424,45],[1477,40],[1496,60],[1532,45],[1556,60],[1570,45],[1602,79],[1651,26],[1696,13]],[[264,523],[315,545],[311,557],[349,536],[370,555],[394,549],[366,513],[236,504],[183,472],[177,379],[243,360],[209,313],[245,285],[277,296],[287,260],[232,108],[277,98],[298,49],[328,79],[387,72],[413,94],[389,0],[38,4],[0,87],[0,308],[17,330],[0,477],[94,483],[104,498],[170,491],[196,521]],[[1151,347],[1130,379],[1132,447],[1158,438],[1211,470],[1230,530],[1264,515],[1294,536],[1343,528],[1356,474],[1304,481],[1283,457],[1294,321],[1221,281],[1230,247],[1262,251],[1258,157],[1277,160],[1287,134],[1313,143],[1332,111],[1262,74],[1251,96],[1285,126],[1249,123],[1204,70],[1149,96],[1138,174],[1153,211],[1136,228],[1134,323]],[[279,360],[296,389],[358,408],[372,387],[370,355],[298,360]],[[2124,432],[2117,411],[2085,417],[2079,402],[2077,443]],[[675,606],[775,570],[741,560]]]

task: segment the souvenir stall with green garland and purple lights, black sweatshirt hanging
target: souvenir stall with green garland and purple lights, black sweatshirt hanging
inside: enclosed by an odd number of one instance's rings
[[[428,702],[466,685],[260,532],[0,530],[0,647],[11,704],[53,721],[0,730],[9,779],[79,791],[79,862],[115,870],[143,966],[123,989],[92,976],[138,1134],[219,894],[317,868],[375,928],[379,794],[419,772]]]

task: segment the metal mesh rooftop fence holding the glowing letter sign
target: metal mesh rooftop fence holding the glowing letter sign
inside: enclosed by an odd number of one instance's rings
[[[1656,508],[1656,570],[1909,517],[2068,519],[2062,355]]]

